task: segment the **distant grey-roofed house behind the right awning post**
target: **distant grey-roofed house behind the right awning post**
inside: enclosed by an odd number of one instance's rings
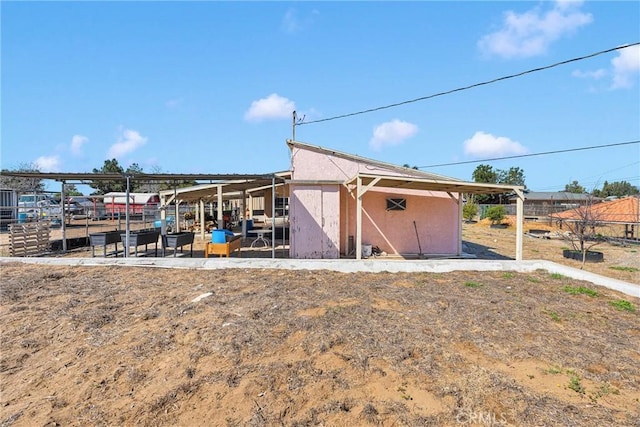
[[[510,203],[516,203],[518,196],[509,198]],[[570,193],[567,191],[525,191],[525,217],[546,217],[555,212],[583,206],[589,201],[601,201],[590,194]]]

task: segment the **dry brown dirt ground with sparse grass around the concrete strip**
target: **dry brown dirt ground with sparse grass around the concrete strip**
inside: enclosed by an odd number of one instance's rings
[[[637,248],[598,249],[638,283]],[[640,299],[545,271],[0,269],[3,427],[639,425]]]

